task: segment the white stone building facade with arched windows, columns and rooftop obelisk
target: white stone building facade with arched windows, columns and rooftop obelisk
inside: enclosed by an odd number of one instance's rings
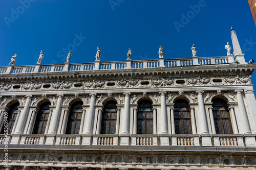
[[[0,168],[255,169],[255,64],[231,38],[223,57],[0,67]]]

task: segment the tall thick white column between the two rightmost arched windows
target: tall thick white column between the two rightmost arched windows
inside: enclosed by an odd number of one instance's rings
[[[207,117],[204,107],[204,99],[203,99],[203,93],[204,91],[196,91],[197,93],[197,99],[198,99],[198,111],[199,111],[199,117],[200,117],[200,128],[201,128],[201,134],[209,134],[208,126],[207,126]]]

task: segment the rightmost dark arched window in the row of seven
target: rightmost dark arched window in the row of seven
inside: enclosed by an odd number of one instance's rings
[[[233,134],[227,103],[223,99],[212,100],[212,114],[217,134]]]

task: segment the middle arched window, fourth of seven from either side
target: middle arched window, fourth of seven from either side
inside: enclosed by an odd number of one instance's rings
[[[116,133],[116,117],[117,117],[117,102],[106,102],[101,124],[101,134],[115,134]]]

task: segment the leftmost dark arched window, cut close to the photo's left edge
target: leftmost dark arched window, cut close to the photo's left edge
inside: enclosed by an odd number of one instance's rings
[[[7,117],[7,121],[8,121],[8,134],[12,133],[12,128],[14,126],[14,123],[15,123],[15,120],[16,120],[16,117],[17,117],[17,114],[18,114],[18,106],[19,106],[19,103],[14,103],[11,105],[9,111],[8,111],[8,117]],[[5,130],[4,130],[4,126],[2,128],[2,131],[1,133],[4,134],[5,133]]]

